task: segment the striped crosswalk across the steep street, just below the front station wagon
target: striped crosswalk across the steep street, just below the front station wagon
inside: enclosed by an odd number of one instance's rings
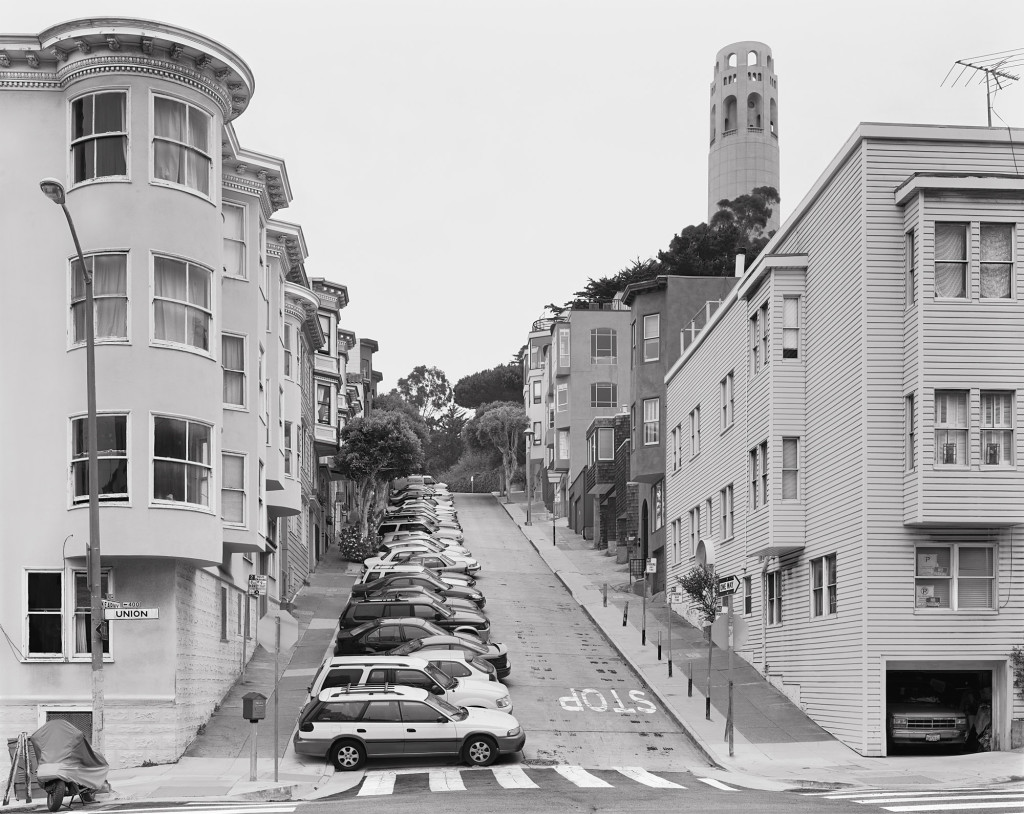
[[[495,766],[487,769],[371,769],[353,787],[332,797],[386,797],[401,792],[436,794],[479,790],[486,787],[537,789],[569,783],[577,788],[622,788],[643,785],[649,788],[686,790],[679,782],[682,773],[663,777],[639,766],[588,769],[583,766]],[[694,784],[702,783],[720,791],[737,789],[711,777],[686,775]]]

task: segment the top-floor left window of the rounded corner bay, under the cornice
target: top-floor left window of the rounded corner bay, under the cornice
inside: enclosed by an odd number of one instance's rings
[[[74,183],[128,176],[128,94],[103,91],[71,103]]]

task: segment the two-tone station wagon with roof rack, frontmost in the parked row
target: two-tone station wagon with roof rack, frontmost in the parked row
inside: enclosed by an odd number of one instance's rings
[[[340,771],[368,758],[451,757],[489,766],[522,749],[526,736],[508,713],[456,706],[420,687],[336,687],[299,716],[299,755],[327,757]]]

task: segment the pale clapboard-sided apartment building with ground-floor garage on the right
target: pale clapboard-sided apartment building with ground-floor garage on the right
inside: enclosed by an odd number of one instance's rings
[[[736,576],[740,655],[862,755],[922,694],[1024,718],[1022,141],[860,125],[668,372],[670,584]]]

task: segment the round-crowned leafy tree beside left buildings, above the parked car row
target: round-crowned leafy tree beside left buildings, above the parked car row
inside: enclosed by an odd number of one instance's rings
[[[359,534],[366,540],[384,514],[388,485],[420,468],[423,446],[400,413],[375,410],[341,431],[341,452],[335,464],[341,475],[355,483]]]

